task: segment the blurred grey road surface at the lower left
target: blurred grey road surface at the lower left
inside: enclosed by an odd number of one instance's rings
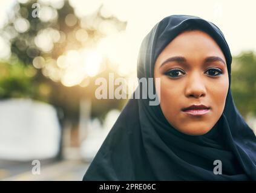
[[[88,165],[80,160],[41,162],[40,174],[33,174],[31,162],[0,161],[0,180],[80,181]]]

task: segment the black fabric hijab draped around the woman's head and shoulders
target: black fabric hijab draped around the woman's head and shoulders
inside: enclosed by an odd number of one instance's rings
[[[232,56],[216,25],[195,16],[165,17],[143,39],[137,76],[153,78],[157,56],[189,28],[208,33],[225,55],[229,89],[220,119],[208,133],[190,136],[172,127],[159,105],[130,99],[83,180],[256,180],[256,137],[232,100]],[[214,174],[214,160],[221,160],[222,174]]]

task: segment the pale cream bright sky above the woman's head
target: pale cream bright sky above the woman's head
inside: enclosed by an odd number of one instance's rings
[[[128,21],[128,36],[133,42],[141,43],[143,37],[163,17],[171,14],[191,14],[216,24],[225,34],[232,54],[241,50],[256,50],[256,1],[220,1],[220,0],[140,0],[140,1],[99,1],[90,7],[90,1],[71,0],[79,14],[93,10],[100,2],[119,19]]]

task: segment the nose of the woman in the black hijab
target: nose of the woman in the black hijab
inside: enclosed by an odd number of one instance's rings
[[[185,90],[186,97],[199,98],[206,95],[205,84],[199,75],[189,78]]]

